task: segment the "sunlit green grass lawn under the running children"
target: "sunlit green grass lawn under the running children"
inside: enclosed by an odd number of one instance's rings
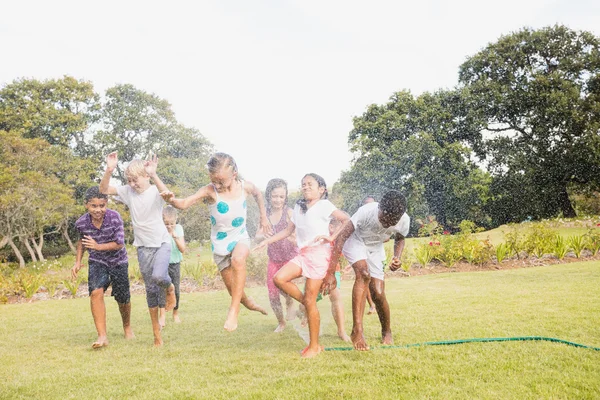
[[[350,290],[343,281],[346,328]],[[600,263],[427,275],[386,282],[397,345],[474,337],[548,336],[600,347]],[[248,293],[268,305],[265,288]],[[577,398],[600,396],[600,352],[550,342],[472,343],[303,360],[291,325],[243,310],[222,326],[225,291],[183,294],[181,325],[153,349],[143,296],[133,296],[137,338],[121,335],[106,298],[111,344],[93,351],[88,299],[0,306],[0,398]],[[337,339],[329,301],[319,303],[325,346]],[[365,316],[378,344],[376,316]]]

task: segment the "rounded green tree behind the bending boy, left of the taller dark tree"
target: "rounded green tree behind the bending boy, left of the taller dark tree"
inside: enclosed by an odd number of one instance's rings
[[[434,214],[443,225],[463,219],[489,225],[482,212],[489,176],[470,160],[454,110],[455,92],[414,98],[398,92],[385,105],[371,105],[354,118],[350,145],[354,161],[334,186],[344,208],[354,212],[369,194],[390,189],[405,194],[412,216]]]

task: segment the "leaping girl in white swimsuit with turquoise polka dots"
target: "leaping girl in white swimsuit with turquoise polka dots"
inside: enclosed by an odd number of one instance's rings
[[[238,177],[233,157],[215,153],[207,163],[211,183],[201,187],[185,199],[176,199],[169,191],[161,193],[175,208],[186,209],[200,200],[206,200],[210,209],[213,259],[219,267],[223,282],[231,295],[231,305],[223,328],[234,331],[238,325],[240,303],[252,311],[267,312],[244,293],[246,258],[250,253],[250,237],[246,231],[246,196],[252,195],[260,209],[263,232],[271,233],[260,190]],[[231,267],[231,268],[230,268]]]

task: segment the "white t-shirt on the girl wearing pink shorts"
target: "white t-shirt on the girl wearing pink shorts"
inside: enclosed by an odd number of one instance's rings
[[[307,246],[319,246],[322,243],[314,243],[317,236],[329,236],[329,221],[331,213],[337,210],[329,200],[319,200],[315,205],[302,213],[298,204],[294,207],[292,222],[296,225],[296,243],[301,249]],[[327,243],[329,246],[329,243]]]

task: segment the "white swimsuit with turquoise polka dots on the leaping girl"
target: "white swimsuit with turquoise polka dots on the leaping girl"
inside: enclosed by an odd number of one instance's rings
[[[217,201],[209,206],[210,241],[214,254],[226,256],[238,241],[250,239],[246,231],[246,192],[242,181],[242,195],[236,200],[225,201],[215,189]]]

